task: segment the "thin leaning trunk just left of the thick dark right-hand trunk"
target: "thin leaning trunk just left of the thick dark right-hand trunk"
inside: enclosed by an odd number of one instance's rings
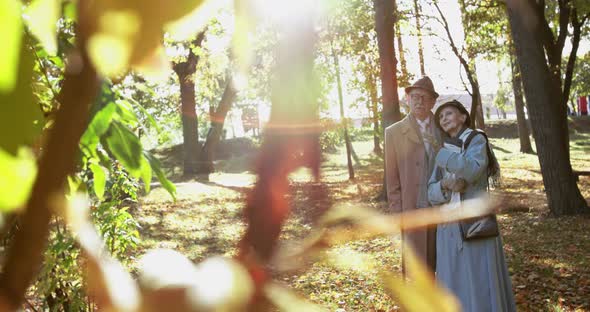
[[[512,72],[512,90],[514,92],[514,108],[516,110],[516,122],[518,124],[518,137],[520,138],[520,152],[533,154],[529,126],[524,115],[524,100],[522,98],[522,79],[518,59],[514,57],[514,45],[510,49],[510,68]]]

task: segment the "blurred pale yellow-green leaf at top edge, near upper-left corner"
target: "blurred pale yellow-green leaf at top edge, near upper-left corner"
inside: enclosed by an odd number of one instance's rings
[[[57,53],[57,20],[60,4],[60,0],[34,0],[25,11],[31,33],[51,55]]]

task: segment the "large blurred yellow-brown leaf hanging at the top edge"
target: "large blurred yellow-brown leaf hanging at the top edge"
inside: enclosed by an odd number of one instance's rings
[[[107,76],[118,75],[129,66],[162,75],[160,54],[165,25],[188,15],[202,0],[167,2],[162,0],[97,0],[89,12],[89,50],[92,62]],[[115,44],[110,48],[109,44]],[[106,54],[106,55],[103,55]],[[104,60],[113,58],[113,60]]]

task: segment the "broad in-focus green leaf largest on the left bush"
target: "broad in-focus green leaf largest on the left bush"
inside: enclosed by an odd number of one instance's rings
[[[137,136],[119,122],[113,122],[105,135],[106,148],[134,177],[141,176],[142,148]]]

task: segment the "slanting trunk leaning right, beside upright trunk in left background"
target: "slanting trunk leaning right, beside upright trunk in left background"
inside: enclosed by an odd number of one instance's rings
[[[209,132],[207,133],[207,139],[203,144],[199,161],[198,173],[200,174],[210,174],[213,172],[215,149],[219,144],[219,140],[221,139],[225,117],[227,116],[227,112],[231,108],[235,97],[236,89],[234,88],[233,81],[230,78],[228,79],[225,91],[223,91],[221,102],[219,102],[217,110],[211,114],[211,128],[209,128]]]

